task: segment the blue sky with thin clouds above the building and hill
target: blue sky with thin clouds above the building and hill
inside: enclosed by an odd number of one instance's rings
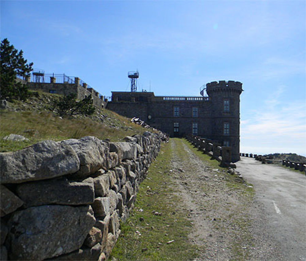
[[[241,152],[306,155],[305,1],[3,1],[1,39],[100,94],[243,83]]]

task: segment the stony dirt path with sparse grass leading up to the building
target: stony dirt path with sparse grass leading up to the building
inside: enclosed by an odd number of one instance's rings
[[[185,140],[170,144],[177,193],[193,224],[189,238],[202,249],[196,260],[286,260],[267,233],[264,206],[252,186],[207,165]]]

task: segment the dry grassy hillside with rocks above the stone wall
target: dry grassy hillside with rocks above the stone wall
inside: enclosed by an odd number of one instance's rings
[[[59,117],[52,110],[53,101],[58,97],[35,91],[25,102],[7,102],[6,108],[0,110],[0,151],[15,151],[41,140],[59,141],[83,136],[119,141],[125,136],[145,131],[142,126],[132,123],[131,119],[106,109],[96,109],[88,117]],[[9,134],[22,135],[28,140],[3,140]]]

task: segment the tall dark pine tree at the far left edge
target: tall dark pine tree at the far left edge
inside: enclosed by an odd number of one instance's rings
[[[1,42],[1,91],[0,99],[24,100],[28,97],[26,84],[16,81],[16,76],[27,76],[32,71],[33,63],[27,64],[23,58],[23,51],[18,52],[13,45],[10,45],[7,38]]]

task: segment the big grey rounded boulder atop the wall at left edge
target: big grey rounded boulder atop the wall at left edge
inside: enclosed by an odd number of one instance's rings
[[[79,169],[80,160],[73,148],[52,140],[19,151],[0,153],[2,184],[49,179]]]

